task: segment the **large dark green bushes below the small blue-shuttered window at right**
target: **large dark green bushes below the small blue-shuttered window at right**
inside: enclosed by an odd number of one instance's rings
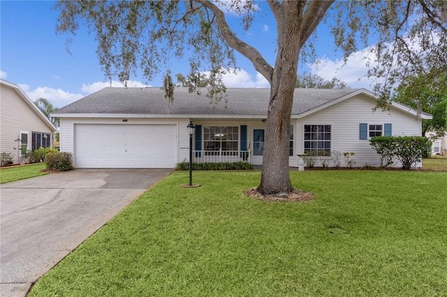
[[[372,137],[369,142],[380,155],[381,166],[387,167],[397,158],[402,169],[416,166],[432,148],[430,139],[422,136],[380,136]]]

